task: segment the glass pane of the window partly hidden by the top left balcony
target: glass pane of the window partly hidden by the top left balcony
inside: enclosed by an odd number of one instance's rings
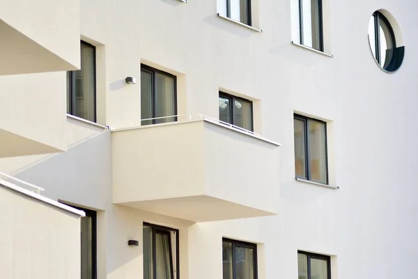
[[[75,78],[75,116],[95,121],[95,64],[94,48],[90,45],[81,46],[82,68],[73,71]]]

